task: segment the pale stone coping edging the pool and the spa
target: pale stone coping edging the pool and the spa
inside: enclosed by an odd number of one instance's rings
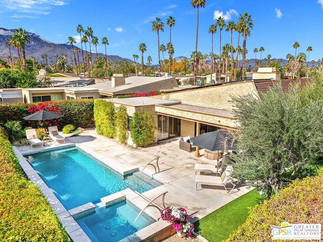
[[[76,147],[75,144],[64,146],[64,148],[68,147]],[[62,148],[62,147],[60,147]],[[52,148],[46,149],[48,150],[55,150],[60,148]],[[77,147],[79,148],[79,147]],[[82,150],[82,149],[81,149]],[[77,208],[66,210],[66,208],[62,205],[59,199],[53,194],[52,190],[45,184],[43,179],[39,176],[37,171],[31,166],[28,160],[21,154],[21,152],[17,149],[17,147],[13,146],[13,151],[16,157],[19,160],[19,164],[24,170],[27,177],[32,181],[32,183],[37,186],[43,196],[46,198],[47,202],[49,203],[52,210],[55,212],[56,216],[60,219],[63,227],[65,228],[66,232],[70,236],[73,242],[91,242],[91,239],[87,236],[87,234],[83,231],[83,229],[79,226],[73,216],[76,214],[91,210],[95,205],[93,203],[87,203],[81,205]],[[82,150],[83,151],[83,150]],[[40,151],[43,152],[43,151]],[[28,154],[40,153],[37,152],[30,152]],[[25,154],[27,155],[27,153]],[[97,159],[97,158],[96,158]],[[117,195],[116,195],[117,194]],[[147,200],[141,196],[139,193],[132,191],[131,189],[125,189],[115,194],[111,194],[104,198],[101,198],[101,202],[116,202],[121,199],[121,197],[126,198],[132,204],[134,204],[139,209],[142,209],[144,206],[147,205]],[[103,200],[103,201],[102,201]],[[73,215],[72,215],[72,214]],[[156,215],[156,211],[152,211],[152,208],[147,208],[145,210],[149,216],[153,219],[157,220],[156,222],[150,224],[149,226],[140,229],[139,231],[125,237],[124,239],[120,240],[120,242],[139,242],[139,241],[159,241],[161,238],[165,238],[167,236],[171,236],[174,234],[175,230],[172,228],[172,224],[164,221],[158,220],[160,218]],[[167,235],[166,235],[167,234]]]

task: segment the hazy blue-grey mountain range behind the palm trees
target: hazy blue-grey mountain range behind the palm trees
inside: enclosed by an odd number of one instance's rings
[[[4,28],[0,28],[0,59],[3,59],[3,61],[8,61],[7,59],[7,55],[10,55],[9,53],[9,47],[6,45],[6,40],[11,38],[11,36],[13,35],[13,33],[15,32],[15,29],[4,29]],[[43,58],[41,57],[44,54],[47,54],[47,62],[48,65],[51,63],[55,63],[56,62],[56,57],[55,55],[61,56],[62,54],[67,54],[67,61],[68,63],[71,62],[71,58],[73,60],[73,64],[74,64],[74,54],[73,54],[73,49],[72,49],[72,45],[70,44],[56,44],[56,43],[52,43],[49,42],[45,39],[43,39],[41,36],[37,35],[37,34],[33,34],[30,32],[27,32],[30,43],[26,43],[26,58],[30,58],[31,56],[34,56],[36,61],[41,63],[43,62]],[[74,45],[74,48],[78,48],[77,46]],[[80,49],[80,48],[78,48]],[[84,53],[84,57],[86,55],[86,53],[90,53],[89,51],[85,52],[85,50],[83,50]],[[17,53],[17,49],[15,47],[11,46],[11,54],[14,58],[14,60],[16,60],[18,58],[18,53]],[[92,56],[92,62],[94,62],[94,59],[96,57],[96,53],[92,52],[91,53]],[[99,57],[105,57],[105,54],[102,53],[97,53],[97,56]],[[80,63],[82,62],[82,51],[80,49],[79,52],[79,59],[80,59]],[[120,62],[120,61],[126,61],[129,63],[133,63],[133,61],[131,61],[131,59],[128,58],[122,58],[118,55],[107,55],[107,59],[111,62]],[[76,56],[76,61],[77,61],[77,56]]]

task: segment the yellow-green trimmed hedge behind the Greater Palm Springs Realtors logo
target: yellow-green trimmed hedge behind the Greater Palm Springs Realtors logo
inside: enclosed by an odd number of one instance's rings
[[[296,179],[271,200],[249,212],[245,223],[229,241],[272,241],[271,225],[289,223],[323,223],[323,169],[318,176]],[[293,240],[303,241],[303,240]]]

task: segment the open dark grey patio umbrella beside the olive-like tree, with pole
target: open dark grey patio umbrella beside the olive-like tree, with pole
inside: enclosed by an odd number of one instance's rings
[[[210,150],[218,151],[218,165],[217,171],[219,170],[219,150],[235,150],[236,140],[229,133],[222,131],[213,131],[198,135],[192,138],[192,143],[195,146]],[[218,172],[217,172],[218,175]]]

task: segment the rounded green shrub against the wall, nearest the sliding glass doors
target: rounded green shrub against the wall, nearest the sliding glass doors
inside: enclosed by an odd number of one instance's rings
[[[157,128],[150,110],[136,111],[129,126],[131,138],[136,145],[146,147],[154,141],[154,131]]]

